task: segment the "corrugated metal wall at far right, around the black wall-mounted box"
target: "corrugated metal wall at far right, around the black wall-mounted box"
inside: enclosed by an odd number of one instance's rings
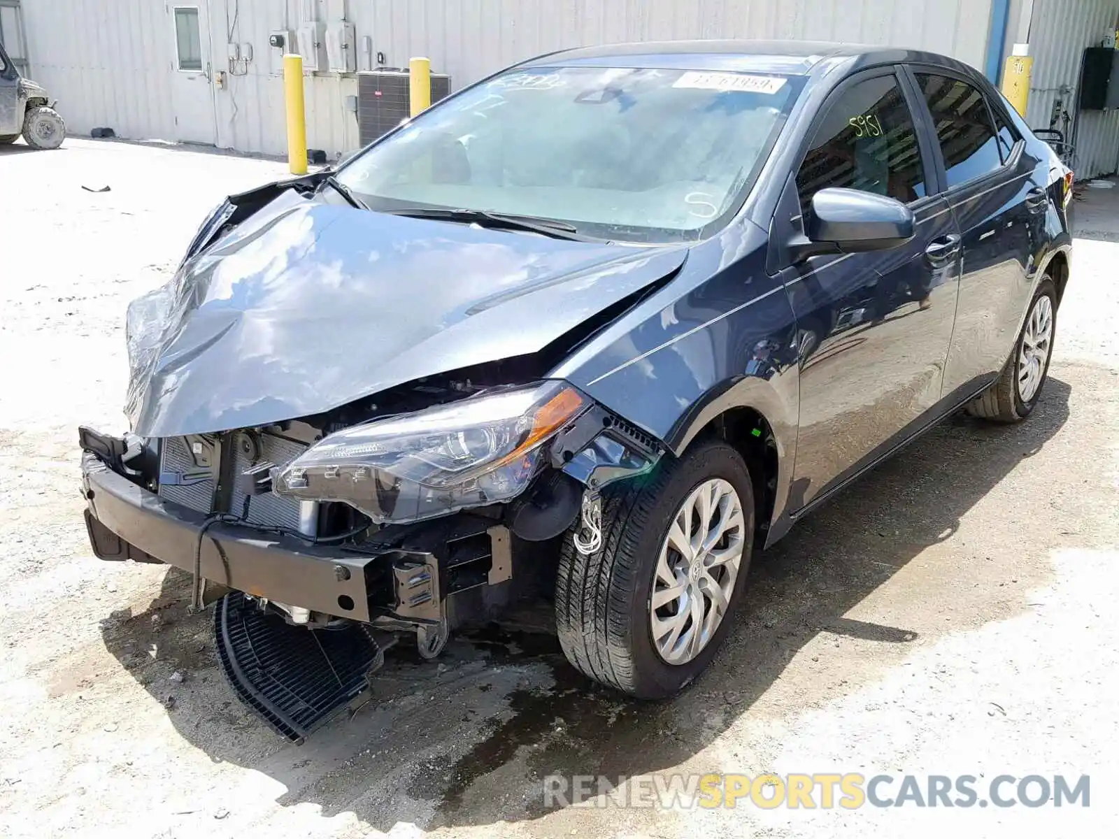
[[[1119,111],[1075,113],[1084,48],[1098,46],[1104,29],[1113,29],[1117,22],[1119,0],[1034,0],[1029,27],[1034,69],[1026,122],[1035,129],[1049,128],[1053,104],[1062,100],[1078,121],[1078,178],[1110,175],[1119,162]]]

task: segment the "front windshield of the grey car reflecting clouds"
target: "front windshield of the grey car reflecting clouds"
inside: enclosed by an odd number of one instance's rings
[[[487,210],[603,239],[694,241],[742,206],[802,84],[723,72],[515,69],[425,112],[338,180],[374,210]]]

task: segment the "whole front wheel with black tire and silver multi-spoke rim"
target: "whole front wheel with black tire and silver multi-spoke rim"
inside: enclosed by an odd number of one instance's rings
[[[556,629],[567,659],[631,696],[681,690],[730,631],[753,531],[746,464],[718,440],[666,459],[651,480],[608,488],[601,548],[581,554],[573,530],[561,554]]]

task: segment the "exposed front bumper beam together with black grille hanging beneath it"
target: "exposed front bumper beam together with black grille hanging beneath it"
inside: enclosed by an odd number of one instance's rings
[[[368,687],[392,631],[445,628],[448,595],[511,576],[509,532],[491,520],[460,513],[378,531],[379,541],[312,545],[160,498],[133,480],[143,479],[124,465],[123,440],[83,430],[82,444],[94,554],[189,573],[197,558],[200,576],[234,590],[214,612],[222,670],[246,705],[297,743]],[[262,601],[356,623],[292,626]]]

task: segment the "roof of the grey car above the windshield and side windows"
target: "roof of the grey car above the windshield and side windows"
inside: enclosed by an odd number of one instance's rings
[[[864,44],[803,40],[669,40],[579,47],[533,58],[520,66],[681,67],[696,70],[769,70],[808,74],[825,59],[861,65],[925,62],[958,65],[932,53]]]

